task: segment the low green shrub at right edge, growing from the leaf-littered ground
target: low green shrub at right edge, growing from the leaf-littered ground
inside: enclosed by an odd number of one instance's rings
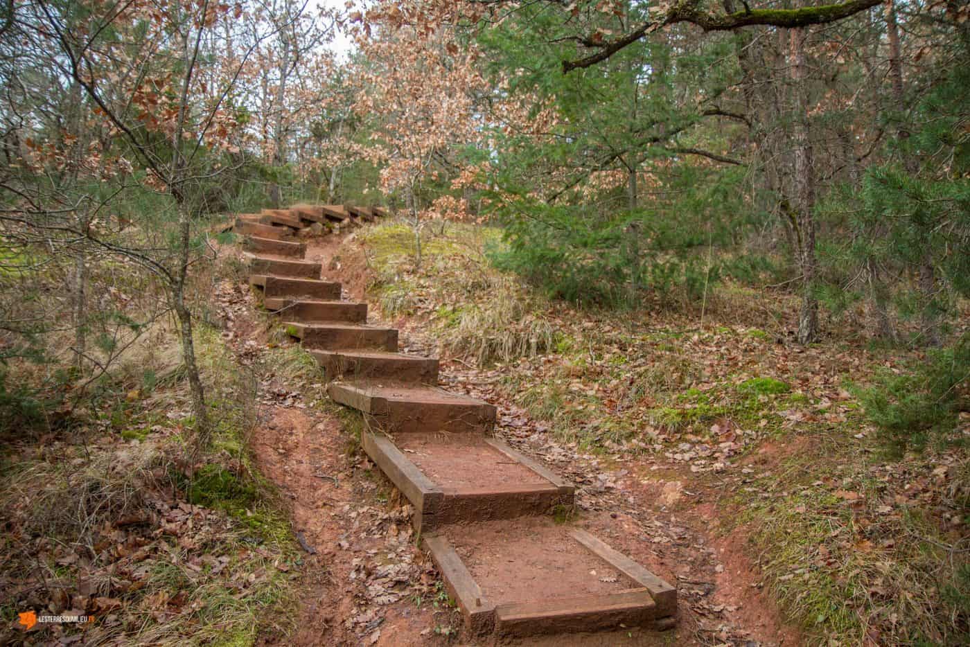
[[[857,388],[857,395],[866,416],[899,453],[954,442],[958,414],[970,404],[968,367],[970,336],[964,335],[951,348],[929,351],[908,372],[881,372],[875,385]]]

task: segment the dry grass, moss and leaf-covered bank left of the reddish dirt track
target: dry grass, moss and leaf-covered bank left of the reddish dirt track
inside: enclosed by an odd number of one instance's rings
[[[187,385],[166,364],[178,342],[154,343],[138,370],[106,373],[70,426],[7,445],[0,510],[15,588],[0,641],[16,639],[16,613],[28,609],[94,616],[84,627],[41,626],[45,640],[249,645],[260,631],[291,628],[299,555],[248,449],[255,376],[218,331],[197,325],[213,426],[200,450],[189,442]]]

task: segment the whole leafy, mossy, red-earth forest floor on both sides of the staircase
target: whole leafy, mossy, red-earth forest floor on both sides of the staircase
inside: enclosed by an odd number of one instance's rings
[[[767,289],[723,286],[702,313],[550,302],[489,266],[494,240],[429,229],[415,268],[410,231],[379,224],[310,241],[307,260],[403,350],[439,356],[444,388],[496,404],[497,435],[576,484],[576,524],[678,589],[673,631],[514,644],[958,643],[966,455],[890,457],[853,395],[913,354],[835,322],[797,346],[791,297]],[[361,451],[359,414],[259,311],[239,247],[219,256],[198,336],[209,455],[178,454],[187,394],[165,331],[111,407],[5,445],[0,641],[479,644]],[[57,539],[79,528],[86,543]],[[96,622],[24,633],[24,608]]]

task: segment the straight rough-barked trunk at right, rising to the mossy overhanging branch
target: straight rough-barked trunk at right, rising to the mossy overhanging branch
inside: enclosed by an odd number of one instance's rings
[[[797,225],[798,266],[802,275],[801,310],[798,313],[799,343],[811,343],[819,337],[819,303],[813,294],[818,274],[815,257],[815,190],[812,177],[812,146],[808,133],[808,92],[805,87],[804,29],[792,29],[792,95],[793,156],[795,184],[795,218]]]

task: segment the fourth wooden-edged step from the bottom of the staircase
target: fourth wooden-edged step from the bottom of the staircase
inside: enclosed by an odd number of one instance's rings
[[[416,384],[437,383],[437,360],[428,357],[342,348],[310,352],[329,380],[347,376]]]

